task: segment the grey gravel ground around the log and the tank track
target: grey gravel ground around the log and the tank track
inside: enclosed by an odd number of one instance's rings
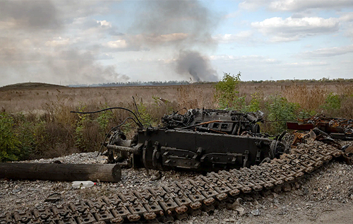
[[[352,142],[350,143],[352,144]],[[104,163],[97,153],[76,153],[62,158],[26,161],[30,163]],[[150,170],[150,174],[156,174]],[[87,189],[73,189],[71,182],[0,180],[0,213],[25,211],[37,206],[51,206],[44,200],[52,193],[61,194],[56,206],[97,196],[110,196],[118,189],[155,187],[196,173],[162,172],[162,179],[152,181],[144,169],[122,170],[119,183],[97,183]],[[174,223],[352,223],[353,165],[337,161],[323,165],[309,175],[297,179],[287,191],[263,191],[241,196],[227,208],[214,213],[203,212]]]

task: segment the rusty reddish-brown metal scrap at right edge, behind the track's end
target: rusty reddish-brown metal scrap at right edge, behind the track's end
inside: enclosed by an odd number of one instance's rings
[[[293,130],[309,131],[315,127],[332,138],[353,140],[353,119],[325,117],[321,114],[299,119],[299,122],[287,122],[287,128]]]

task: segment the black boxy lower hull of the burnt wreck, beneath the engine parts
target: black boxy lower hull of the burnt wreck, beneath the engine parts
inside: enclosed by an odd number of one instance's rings
[[[205,172],[250,167],[286,151],[285,144],[269,138],[166,128],[138,129],[130,147],[107,148],[131,153],[133,167]]]

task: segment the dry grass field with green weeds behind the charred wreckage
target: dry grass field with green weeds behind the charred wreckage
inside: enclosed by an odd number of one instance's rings
[[[316,113],[353,118],[352,82],[239,83],[234,92],[237,110],[265,113],[265,120],[290,120]],[[218,95],[222,98],[222,93]],[[136,86],[68,88],[23,83],[0,88],[0,160],[52,157],[79,151],[97,151],[104,134],[129,114],[114,110],[79,116],[71,110],[94,111],[107,107],[135,110],[157,125],[164,114],[186,108],[219,108],[215,86]],[[160,98],[163,99],[160,100]],[[135,126],[127,123],[125,131]],[[269,122],[261,129],[276,134],[285,122]]]

